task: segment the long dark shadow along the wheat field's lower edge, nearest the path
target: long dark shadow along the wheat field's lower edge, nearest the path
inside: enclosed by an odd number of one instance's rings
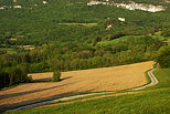
[[[12,108],[15,108],[19,106],[34,104],[34,103],[42,102],[42,101],[46,101],[46,103],[51,103],[51,101],[47,101],[47,100],[52,100],[52,99],[60,97],[63,95],[85,93],[85,92],[91,92],[91,91],[93,91],[93,90],[88,90],[88,91],[84,91],[84,92],[78,92],[78,90],[76,90],[76,91],[72,91],[72,92],[66,92],[66,93],[53,95],[50,97],[35,99],[35,100],[24,101],[24,102],[19,102],[19,103],[13,103],[13,104],[4,104],[4,105],[0,105],[0,113],[3,113],[4,111],[12,110]]]

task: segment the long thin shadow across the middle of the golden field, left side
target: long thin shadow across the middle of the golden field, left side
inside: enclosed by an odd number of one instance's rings
[[[30,93],[35,93],[35,92],[41,92],[41,91],[51,90],[51,89],[56,89],[56,87],[61,87],[61,86],[65,86],[65,85],[71,85],[74,83],[76,83],[76,82],[67,83],[67,84],[63,84],[63,85],[57,85],[57,86],[53,86],[53,87],[47,87],[47,89],[41,89],[41,90],[33,90],[33,91],[12,93],[12,94],[3,94],[3,95],[0,95],[0,100],[8,99],[8,97],[14,97],[14,96],[19,96],[19,95],[24,95],[24,94],[30,94]]]

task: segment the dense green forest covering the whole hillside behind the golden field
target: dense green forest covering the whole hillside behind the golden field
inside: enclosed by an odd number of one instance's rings
[[[163,6],[166,10],[153,13],[87,6],[88,0],[1,0],[0,87],[30,82],[26,73],[155,60],[157,51],[168,45],[170,3],[134,1]]]

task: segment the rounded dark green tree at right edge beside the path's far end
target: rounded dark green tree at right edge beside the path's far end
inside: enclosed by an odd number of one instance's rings
[[[161,68],[170,66],[170,45],[160,48],[157,53],[156,61]]]

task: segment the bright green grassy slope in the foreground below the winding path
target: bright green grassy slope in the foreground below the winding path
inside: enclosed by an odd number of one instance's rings
[[[12,114],[170,114],[170,69],[159,69],[153,73],[159,83],[140,93],[32,108]]]

